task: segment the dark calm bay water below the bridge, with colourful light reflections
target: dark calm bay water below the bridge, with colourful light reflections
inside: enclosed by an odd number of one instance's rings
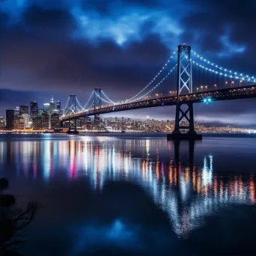
[[[256,138],[1,135],[0,153],[43,205],[27,256],[256,254]]]

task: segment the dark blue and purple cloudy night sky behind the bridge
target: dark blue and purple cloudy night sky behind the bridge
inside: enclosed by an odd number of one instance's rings
[[[132,97],[177,45],[256,75],[255,0],[1,0],[0,115],[69,94],[86,102],[95,87]],[[115,116],[174,119],[174,107]],[[256,100],[196,104],[196,121],[255,124]]]

